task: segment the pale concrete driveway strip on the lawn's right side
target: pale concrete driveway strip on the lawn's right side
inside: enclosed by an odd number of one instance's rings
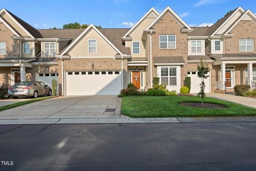
[[[251,97],[243,97],[238,95],[230,94],[219,94],[219,93],[206,93],[207,97],[212,97],[215,99],[226,100],[229,102],[238,103],[246,107],[256,108],[256,99]]]

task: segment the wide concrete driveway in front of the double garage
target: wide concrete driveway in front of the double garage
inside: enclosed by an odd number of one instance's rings
[[[125,118],[117,96],[65,96],[0,112],[0,119]]]

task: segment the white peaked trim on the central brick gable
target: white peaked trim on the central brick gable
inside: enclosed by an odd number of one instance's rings
[[[157,23],[157,22],[165,15],[165,13],[167,13],[167,12],[169,12],[169,13],[172,15],[172,17],[180,23],[180,25],[181,25],[182,27],[185,27],[185,28],[191,30],[191,28],[187,25],[187,23],[186,23],[185,21],[183,21],[183,20],[179,17],[179,15],[178,15],[177,13],[175,13],[175,12],[170,8],[170,6],[167,6],[166,9],[165,9],[160,15],[158,15],[158,17],[147,27],[146,30],[149,30],[151,27],[154,27],[154,26],[156,25],[156,23]]]

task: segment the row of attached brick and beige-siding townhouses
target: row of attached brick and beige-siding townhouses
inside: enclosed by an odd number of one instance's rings
[[[150,9],[131,29],[35,29],[0,11],[0,84],[58,80],[60,95],[118,94],[153,78],[179,92],[197,65],[209,63],[206,92],[256,83],[256,16],[238,7],[211,27],[189,27],[170,7]]]

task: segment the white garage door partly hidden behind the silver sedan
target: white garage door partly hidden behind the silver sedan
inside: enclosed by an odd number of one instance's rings
[[[43,82],[50,87],[52,87],[52,80],[55,79],[57,81],[57,94],[59,94],[59,86],[58,86],[58,74],[57,73],[37,73],[36,81]]]

